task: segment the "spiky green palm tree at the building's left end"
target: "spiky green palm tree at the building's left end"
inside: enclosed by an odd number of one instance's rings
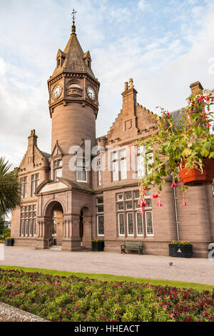
[[[16,170],[0,157],[0,218],[7,212],[21,205],[21,186]]]

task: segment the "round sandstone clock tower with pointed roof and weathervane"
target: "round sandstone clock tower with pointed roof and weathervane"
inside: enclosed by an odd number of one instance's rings
[[[48,87],[52,119],[51,162],[53,166],[60,162],[62,177],[76,181],[76,172],[68,168],[74,154],[71,147],[84,147],[86,140],[91,141],[91,148],[96,145],[100,83],[91,69],[90,52],[84,53],[78,42],[74,16],[71,37],[64,51],[58,49],[56,69]],[[56,179],[53,169],[51,175],[51,179]],[[85,183],[91,186],[90,179]]]

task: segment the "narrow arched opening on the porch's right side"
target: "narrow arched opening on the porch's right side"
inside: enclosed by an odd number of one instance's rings
[[[91,214],[88,207],[82,207],[79,221],[81,246],[91,248]]]

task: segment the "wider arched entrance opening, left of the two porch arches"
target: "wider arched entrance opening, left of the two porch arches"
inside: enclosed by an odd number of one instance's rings
[[[46,209],[46,223],[54,238],[55,245],[62,245],[63,241],[63,207],[57,201],[51,202]]]

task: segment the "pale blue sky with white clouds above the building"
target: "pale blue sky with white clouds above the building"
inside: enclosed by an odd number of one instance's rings
[[[121,111],[125,81],[157,112],[184,107],[190,84],[214,87],[214,0],[0,1],[0,156],[18,167],[31,129],[51,152],[47,80],[71,34],[101,82],[96,136]]]

